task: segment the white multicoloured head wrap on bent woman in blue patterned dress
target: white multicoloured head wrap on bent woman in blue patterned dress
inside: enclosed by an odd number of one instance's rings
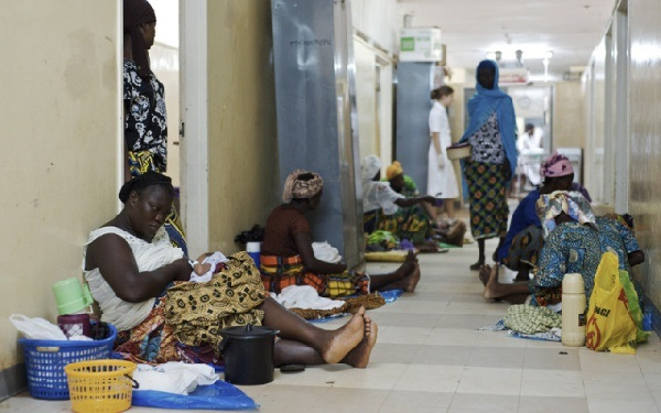
[[[541,210],[539,215],[544,238],[555,228],[555,217],[562,213],[581,225],[587,224],[596,227],[595,213],[579,192],[555,191],[549,195],[542,195],[537,207],[538,211]]]

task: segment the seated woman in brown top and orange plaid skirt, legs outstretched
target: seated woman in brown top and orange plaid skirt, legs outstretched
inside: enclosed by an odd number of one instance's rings
[[[420,269],[412,253],[394,272],[373,275],[315,258],[305,213],[319,205],[323,187],[322,177],[314,172],[295,170],[288,176],[282,192],[284,204],[277,206],[267,219],[261,246],[261,273],[267,291],[280,293],[289,285],[311,285],[319,295],[329,297],[398,289],[413,292]]]

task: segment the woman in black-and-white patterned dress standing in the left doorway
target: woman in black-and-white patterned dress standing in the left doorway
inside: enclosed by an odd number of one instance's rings
[[[123,0],[124,182],[167,167],[165,89],[150,68],[149,50],[156,35],[156,14],[147,0]],[[174,247],[187,254],[174,206],[165,220]]]

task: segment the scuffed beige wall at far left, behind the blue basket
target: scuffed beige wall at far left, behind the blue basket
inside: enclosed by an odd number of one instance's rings
[[[55,322],[51,285],[80,276],[117,210],[117,17],[113,1],[0,2],[0,369],[22,360],[8,316]]]

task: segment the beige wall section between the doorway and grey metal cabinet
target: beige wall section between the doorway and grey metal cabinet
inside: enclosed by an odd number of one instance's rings
[[[271,2],[207,4],[209,249],[232,252],[279,202]]]

